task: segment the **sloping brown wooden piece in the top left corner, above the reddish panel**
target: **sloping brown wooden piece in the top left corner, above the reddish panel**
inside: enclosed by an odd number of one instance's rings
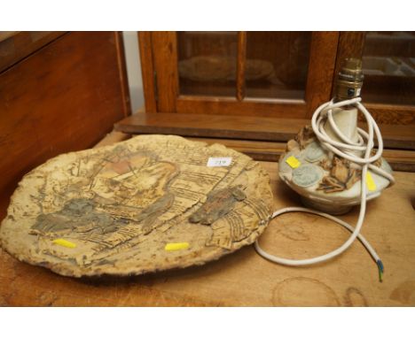
[[[66,32],[10,32],[0,39],[0,72]]]

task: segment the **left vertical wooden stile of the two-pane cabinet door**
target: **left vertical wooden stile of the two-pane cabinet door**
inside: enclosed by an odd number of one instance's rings
[[[175,112],[178,96],[176,32],[153,32],[152,41],[159,90],[157,111]]]

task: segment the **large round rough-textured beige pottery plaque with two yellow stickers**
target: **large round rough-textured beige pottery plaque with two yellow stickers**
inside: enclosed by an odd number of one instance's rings
[[[231,157],[207,166],[210,157]],[[270,178],[250,157],[179,136],[52,158],[20,181],[0,228],[4,250],[67,276],[202,265],[267,226]]]

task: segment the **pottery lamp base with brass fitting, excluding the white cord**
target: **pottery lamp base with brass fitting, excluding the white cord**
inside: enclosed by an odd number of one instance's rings
[[[361,130],[357,127],[357,106],[345,104],[330,110],[333,104],[358,98],[363,77],[361,61],[347,59],[338,75],[333,101],[320,109],[320,133],[334,142],[363,145],[365,133],[362,131],[364,134],[360,134]],[[345,151],[351,156],[364,155],[363,149]],[[371,156],[375,153],[371,150]],[[380,196],[380,192],[389,185],[388,176],[385,177],[376,168],[392,173],[384,158],[372,162],[366,175],[367,200]],[[278,171],[279,177],[301,195],[303,204],[331,214],[345,213],[353,205],[360,204],[361,172],[361,165],[327,148],[312,126],[303,127],[294,140],[287,142]]]

